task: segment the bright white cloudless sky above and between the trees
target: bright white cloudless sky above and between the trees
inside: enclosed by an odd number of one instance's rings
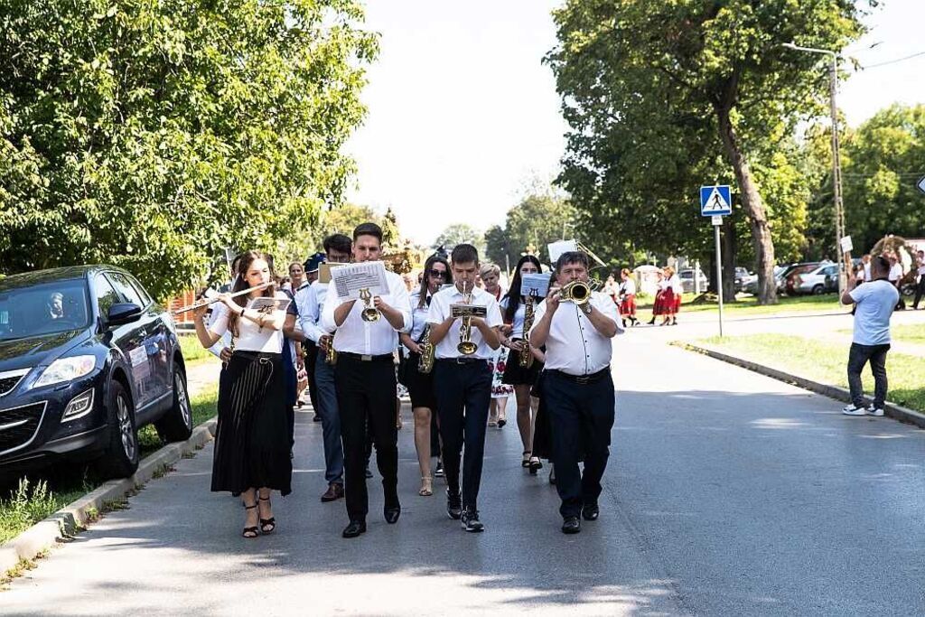
[[[380,56],[362,97],[368,117],[346,148],[359,168],[351,202],[390,206],[402,235],[430,244],[453,223],[503,225],[525,186],[554,178],[568,127],[541,59],[560,5],[367,0]],[[852,126],[894,102],[925,103],[925,54],[873,66],[925,52],[925,0],[885,0],[866,22],[845,55],[869,68],[838,93]]]

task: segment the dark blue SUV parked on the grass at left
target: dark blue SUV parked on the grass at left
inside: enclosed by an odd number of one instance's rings
[[[190,437],[186,369],[169,314],[125,270],[85,265],[0,279],[0,472],[139,462],[138,429]]]

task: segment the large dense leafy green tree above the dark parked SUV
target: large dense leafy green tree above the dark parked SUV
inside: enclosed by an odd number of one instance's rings
[[[110,262],[165,298],[342,201],[359,2],[0,0],[0,263]]]

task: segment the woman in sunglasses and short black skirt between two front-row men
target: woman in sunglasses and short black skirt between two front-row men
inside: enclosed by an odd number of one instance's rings
[[[434,478],[430,473],[433,418],[437,415],[437,398],[434,395],[433,373],[421,373],[418,363],[421,361],[421,339],[427,327],[427,311],[430,297],[441,285],[452,282],[450,264],[439,255],[431,255],[424,265],[421,287],[411,294],[412,323],[407,332],[401,332],[399,338],[407,352],[401,354],[400,381],[411,396],[414,414],[414,448],[417,450],[417,462],[421,466],[421,488],[418,495],[430,497],[434,494]]]

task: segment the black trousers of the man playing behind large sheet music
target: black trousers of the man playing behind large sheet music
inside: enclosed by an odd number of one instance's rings
[[[351,521],[369,512],[366,492],[367,431],[376,444],[387,508],[399,505],[398,429],[395,427],[395,369],[390,357],[372,362],[338,355],[334,372],[344,447],[344,497]]]

